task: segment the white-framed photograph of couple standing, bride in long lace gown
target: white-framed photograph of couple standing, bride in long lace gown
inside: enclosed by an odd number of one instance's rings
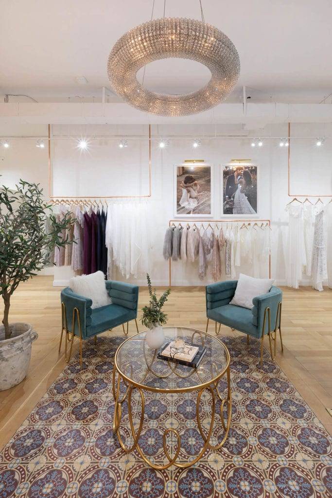
[[[257,164],[222,166],[222,216],[256,217]]]

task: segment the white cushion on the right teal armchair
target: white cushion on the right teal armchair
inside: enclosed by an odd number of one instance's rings
[[[234,297],[229,304],[251,309],[253,298],[269,292],[273,282],[273,278],[253,278],[240,273]]]

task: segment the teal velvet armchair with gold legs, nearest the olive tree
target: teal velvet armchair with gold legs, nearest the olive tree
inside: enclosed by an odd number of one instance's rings
[[[92,309],[92,300],[66,287],[61,291],[62,331],[59,345],[61,350],[62,336],[65,331],[65,357],[68,363],[71,358],[74,337],[80,339],[80,365],[82,367],[82,342],[122,325],[123,333],[128,334],[128,323],[135,320],[137,326],[138,286],[114,280],[105,281],[106,289],[111,297],[111,304]],[[127,324],[126,330],[124,324]],[[70,345],[69,354],[67,352]]]

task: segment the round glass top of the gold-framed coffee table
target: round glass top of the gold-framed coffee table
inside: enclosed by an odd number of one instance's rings
[[[200,330],[185,327],[164,327],[165,345],[181,338],[186,344],[206,348],[198,368],[158,359],[161,349],[150,349],[145,341],[146,332],[126,339],[115,353],[115,367],[121,376],[149,391],[184,392],[216,383],[229,366],[229,353],[217,338]]]

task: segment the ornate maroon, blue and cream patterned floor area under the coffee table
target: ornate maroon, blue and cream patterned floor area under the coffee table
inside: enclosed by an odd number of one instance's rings
[[[188,469],[167,471],[146,466],[136,450],[126,454],[112,433],[112,361],[123,338],[101,337],[96,346],[86,343],[83,370],[74,359],[2,450],[0,497],[332,497],[332,438],[323,425],[267,351],[260,367],[258,341],[247,346],[246,337],[221,340],[230,352],[233,400],[221,450],[208,450]],[[168,427],[181,434],[184,460],[199,453],[196,396],[146,396],[140,445],[152,461],[162,459]],[[209,403],[211,397],[202,396],[207,413]],[[122,412],[129,444],[125,405]],[[219,420],[216,440],[223,430]]]

